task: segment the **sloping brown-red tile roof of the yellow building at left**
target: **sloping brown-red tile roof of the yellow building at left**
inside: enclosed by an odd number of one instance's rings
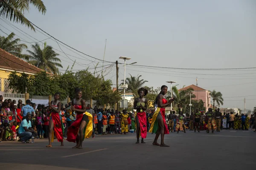
[[[44,71],[0,48],[0,69],[1,68],[32,74]]]

